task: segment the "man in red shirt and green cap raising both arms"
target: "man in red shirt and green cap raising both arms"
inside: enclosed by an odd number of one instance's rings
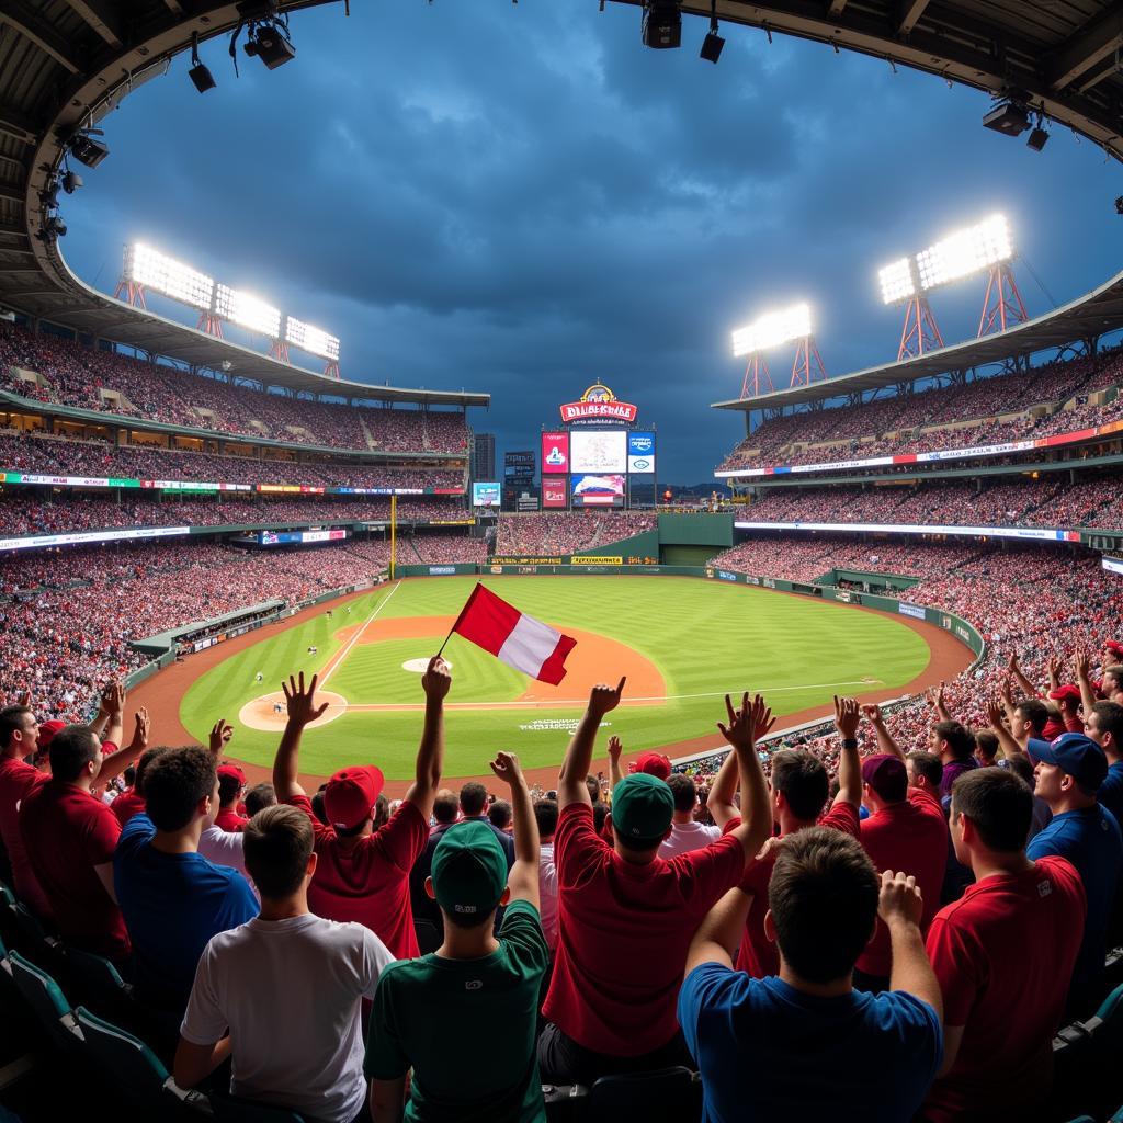
[[[702,850],[660,858],[674,797],[664,780],[636,773],[613,789],[613,844],[597,837],[585,776],[623,686],[621,678],[593,688],[558,777],[558,944],[538,1041],[542,1079],[555,1084],[690,1063],[675,1003],[691,938],[772,833],[756,750],[767,707],[746,693],[740,710],[727,697],[729,727],[719,722],[740,767],[740,827]]]

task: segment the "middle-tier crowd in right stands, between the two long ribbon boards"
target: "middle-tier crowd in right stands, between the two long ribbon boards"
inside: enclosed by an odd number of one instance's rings
[[[1070,485],[1067,474],[990,484],[925,482],[856,489],[773,487],[738,518],[752,522],[886,522],[984,527],[1119,528],[1119,477]]]

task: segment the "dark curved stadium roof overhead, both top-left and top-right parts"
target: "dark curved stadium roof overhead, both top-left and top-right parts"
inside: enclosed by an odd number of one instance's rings
[[[236,375],[271,385],[369,393],[363,383],[331,383],[110,300],[71,273],[56,241],[36,237],[44,218],[40,193],[74,133],[166,73],[193,34],[202,40],[225,37],[271,7],[291,12],[325,2],[330,0],[3,0],[0,301],[185,363],[221,367],[230,362]],[[638,7],[640,0],[614,2]],[[705,18],[711,4],[683,0],[682,9]],[[994,94],[1021,91],[1017,95],[1032,109],[1123,158],[1119,0],[718,0],[716,13],[727,22],[815,39]],[[489,400],[387,387],[376,395],[480,405]]]

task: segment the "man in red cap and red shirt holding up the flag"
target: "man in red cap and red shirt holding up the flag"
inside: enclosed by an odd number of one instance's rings
[[[289,721],[273,764],[277,800],[300,807],[312,820],[318,865],[309,886],[313,913],[325,920],[365,924],[395,959],[420,953],[410,907],[410,869],[429,841],[429,815],[440,787],[445,760],[445,695],[453,677],[438,656],[421,677],[426,695],[424,728],[414,782],[390,821],[373,829],[374,805],[382,792],[382,770],[373,765],[341,768],[323,789],[328,825],[296,782],[304,727],[327,709],[314,701],[317,676],[304,690],[304,675],[284,685]]]

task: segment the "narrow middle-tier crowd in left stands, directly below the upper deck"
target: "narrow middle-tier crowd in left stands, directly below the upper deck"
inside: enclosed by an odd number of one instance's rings
[[[66,440],[0,431],[0,469],[37,475],[115,480],[182,480],[230,484],[304,484],[313,487],[458,487],[463,471],[250,459]]]

